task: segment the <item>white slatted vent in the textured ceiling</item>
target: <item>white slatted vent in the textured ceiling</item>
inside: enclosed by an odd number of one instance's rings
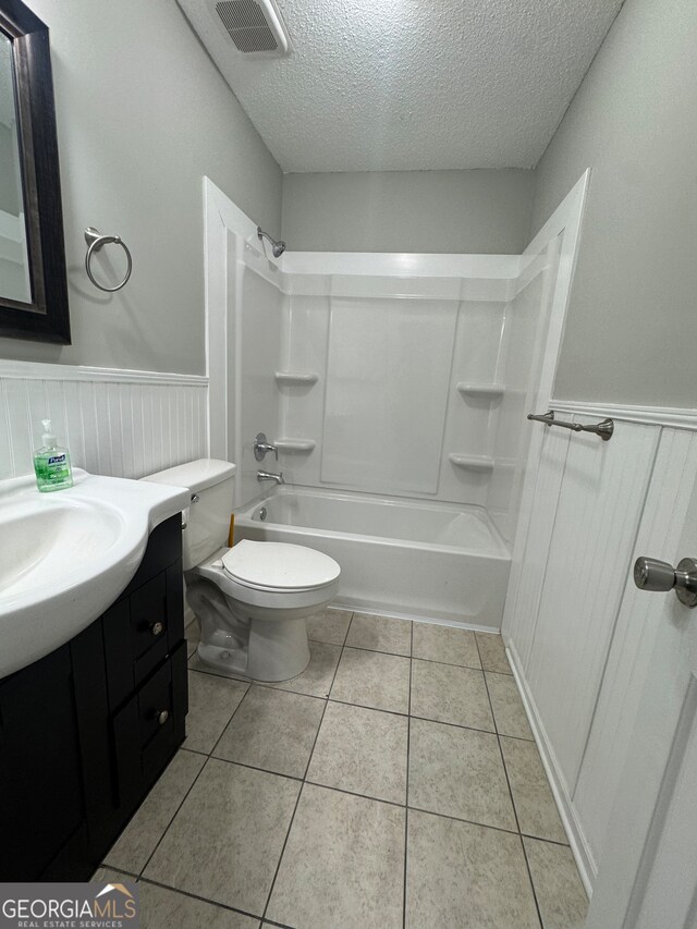
[[[209,7],[237,51],[255,58],[290,52],[288,29],[272,0],[211,0]]]

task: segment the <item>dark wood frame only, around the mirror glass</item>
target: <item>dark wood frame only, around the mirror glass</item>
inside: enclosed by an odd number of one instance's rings
[[[21,0],[0,0],[12,41],[32,303],[0,293],[0,335],[70,344],[56,105],[48,27]]]

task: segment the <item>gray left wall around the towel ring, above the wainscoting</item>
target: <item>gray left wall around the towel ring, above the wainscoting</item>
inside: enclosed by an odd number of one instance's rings
[[[0,357],[203,374],[203,175],[278,235],[281,171],[174,0],[30,5],[51,30],[73,344],[1,339]],[[85,276],[86,225],[133,253],[118,294]]]

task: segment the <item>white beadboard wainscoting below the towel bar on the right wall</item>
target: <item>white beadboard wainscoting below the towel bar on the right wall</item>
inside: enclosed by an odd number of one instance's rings
[[[545,432],[503,636],[591,891],[650,653],[648,598],[635,588],[632,566],[639,554],[677,557],[673,526],[682,522],[672,517],[684,512],[697,472],[697,414],[551,407],[584,424],[611,416],[615,431],[603,442],[529,424]]]

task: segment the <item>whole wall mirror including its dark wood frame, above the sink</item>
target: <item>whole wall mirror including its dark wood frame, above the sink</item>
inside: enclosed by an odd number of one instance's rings
[[[70,343],[48,27],[0,0],[0,335]]]

